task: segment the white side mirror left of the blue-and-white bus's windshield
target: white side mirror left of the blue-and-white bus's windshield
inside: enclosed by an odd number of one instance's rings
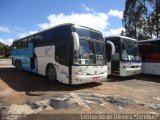
[[[79,36],[76,32],[72,32],[74,50],[79,51]]]

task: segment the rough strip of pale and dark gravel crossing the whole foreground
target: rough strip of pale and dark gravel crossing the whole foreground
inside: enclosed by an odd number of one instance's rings
[[[27,101],[24,105],[13,104],[9,107],[7,114],[8,117],[16,120],[19,117],[35,114],[43,110],[76,110],[77,108],[94,110],[97,107],[105,109],[107,104],[117,106],[117,108],[121,110],[124,110],[125,106],[129,105],[140,105],[154,110],[160,110],[160,104],[145,103],[139,100],[128,99],[120,96],[115,97],[113,95],[100,95],[92,93],[70,93],[68,95],[58,95],[45,98],[42,101]],[[0,103],[0,108],[1,106],[2,104]]]

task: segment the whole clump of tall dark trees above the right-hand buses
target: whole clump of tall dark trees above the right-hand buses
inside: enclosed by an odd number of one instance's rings
[[[126,0],[125,35],[139,40],[160,36],[160,0]]]

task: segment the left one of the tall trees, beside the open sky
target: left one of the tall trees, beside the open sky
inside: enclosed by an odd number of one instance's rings
[[[137,38],[137,30],[141,28],[144,11],[143,0],[126,0],[122,20],[126,36]]]

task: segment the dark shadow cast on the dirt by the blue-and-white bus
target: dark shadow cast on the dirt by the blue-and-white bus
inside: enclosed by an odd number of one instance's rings
[[[59,82],[50,83],[43,76],[27,71],[18,71],[15,68],[0,68],[0,79],[16,91],[26,92],[26,95],[38,96],[30,92],[38,91],[74,91],[92,88],[101,83],[88,83],[81,85],[66,85]]]

